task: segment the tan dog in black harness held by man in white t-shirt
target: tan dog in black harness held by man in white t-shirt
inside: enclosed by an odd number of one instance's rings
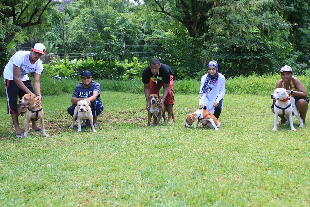
[[[49,137],[44,129],[44,120],[43,120],[43,109],[41,103],[37,105],[37,97],[31,92],[30,94],[25,94],[22,99],[19,101],[19,104],[27,108],[25,114],[25,132],[24,137],[28,136],[29,121],[31,119],[38,120],[40,119],[40,126],[44,136]]]

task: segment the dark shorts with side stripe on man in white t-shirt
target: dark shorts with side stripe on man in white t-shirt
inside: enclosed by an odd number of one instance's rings
[[[25,80],[23,81],[23,83],[33,93],[33,87],[31,85],[31,80]],[[16,114],[18,97],[19,99],[22,99],[22,97],[26,94],[26,92],[21,90],[16,85],[14,80],[4,79],[4,86],[5,86],[5,92],[6,92],[6,99],[8,101],[8,114]]]

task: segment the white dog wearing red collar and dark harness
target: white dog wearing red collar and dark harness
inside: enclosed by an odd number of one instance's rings
[[[286,92],[285,88],[276,88],[273,94],[271,95],[273,100],[276,100],[274,103],[273,110],[275,112],[274,117],[274,126],[273,131],[277,131],[277,121],[278,115],[282,114],[286,118],[287,122],[285,124],[290,123],[291,130],[296,131],[293,126],[293,113],[298,118],[300,125],[299,127],[303,127],[303,121],[300,118],[298,110],[296,108],[295,99],[290,97],[289,94]]]

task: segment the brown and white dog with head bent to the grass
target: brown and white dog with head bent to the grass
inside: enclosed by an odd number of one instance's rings
[[[194,128],[198,127],[198,123],[202,123],[203,126],[214,127],[214,130],[218,131],[218,128],[222,126],[222,124],[218,121],[218,119],[210,113],[209,110],[198,109],[194,111],[192,114],[187,115],[185,127],[190,127],[195,120],[197,119],[196,125]]]

